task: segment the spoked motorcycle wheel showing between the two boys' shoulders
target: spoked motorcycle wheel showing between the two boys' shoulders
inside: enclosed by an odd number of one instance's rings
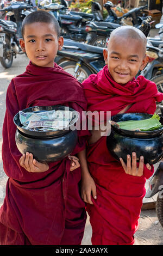
[[[67,73],[74,76],[74,70],[76,68],[76,64],[77,64],[76,62],[68,61],[68,62],[63,62],[59,64],[59,66],[61,66],[61,68],[63,68]],[[89,69],[87,69],[86,66],[82,65],[79,67],[77,75],[75,77],[80,83],[82,83],[91,74],[92,72]]]

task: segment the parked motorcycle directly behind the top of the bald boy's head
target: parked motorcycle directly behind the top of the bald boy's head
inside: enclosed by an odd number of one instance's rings
[[[87,23],[86,25],[86,43],[93,45],[93,46],[98,46],[98,47],[106,47],[106,43],[109,39],[110,33],[118,27],[121,27],[123,25],[126,25],[124,22],[125,19],[128,17],[131,18],[133,26],[136,28],[140,28],[142,25],[142,22],[145,21],[142,17],[138,16],[140,11],[145,9],[147,5],[144,7],[140,8],[134,8],[128,13],[124,14],[122,17],[117,17],[120,23],[111,23],[111,22],[96,22],[96,21],[91,21]],[[148,19],[149,16],[146,17],[146,20]]]

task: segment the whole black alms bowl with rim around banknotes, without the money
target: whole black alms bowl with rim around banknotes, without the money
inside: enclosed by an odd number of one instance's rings
[[[64,106],[49,106],[49,107],[32,107],[24,109],[24,112],[37,112],[43,110],[61,109],[64,110]],[[69,111],[74,111],[70,109]],[[72,121],[73,125],[78,120],[78,113],[74,111],[76,115]],[[14,117],[14,123],[17,126],[15,133],[15,141],[18,150],[21,154],[29,152],[32,153],[34,158],[39,162],[55,162],[64,159],[70,155],[76,147],[78,134],[77,130],[71,130],[72,124],[69,130],[57,130],[49,132],[36,132],[23,129],[19,120],[18,113]]]

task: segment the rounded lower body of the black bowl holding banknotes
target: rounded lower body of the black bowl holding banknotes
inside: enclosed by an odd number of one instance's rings
[[[46,139],[24,136],[18,129],[15,133],[16,145],[21,154],[32,153],[37,161],[46,163],[60,161],[70,155],[76,147],[77,140],[77,130]]]

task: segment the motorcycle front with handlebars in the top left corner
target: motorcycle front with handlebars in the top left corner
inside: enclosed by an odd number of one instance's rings
[[[21,26],[24,17],[26,17],[33,10],[33,6],[24,2],[13,2],[10,6],[3,8],[2,10],[7,14],[7,20],[16,22],[17,34],[21,38]]]

